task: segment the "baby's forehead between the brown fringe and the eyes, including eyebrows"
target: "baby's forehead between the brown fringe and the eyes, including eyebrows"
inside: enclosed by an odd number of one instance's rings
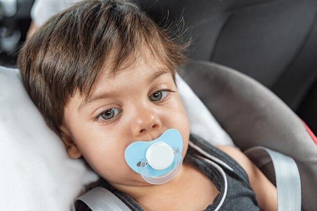
[[[148,56],[138,57],[134,62],[126,62],[114,73],[112,68],[111,63],[103,66],[87,97],[77,95],[80,101],[78,111],[98,98],[120,95],[120,92],[126,92],[133,86],[143,88],[162,75],[164,78],[172,76],[175,80],[175,71]]]

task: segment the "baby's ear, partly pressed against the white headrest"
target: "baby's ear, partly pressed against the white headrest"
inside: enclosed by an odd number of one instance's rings
[[[66,151],[69,157],[72,159],[78,159],[82,156],[81,151],[78,149],[77,145],[74,143],[70,131],[64,125],[60,127],[61,139],[63,140]]]

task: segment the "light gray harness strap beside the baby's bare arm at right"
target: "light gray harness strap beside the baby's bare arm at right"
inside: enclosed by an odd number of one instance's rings
[[[292,157],[262,146],[245,151],[248,156],[265,150],[274,166],[279,211],[301,210],[301,185],[297,165]],[[251,159],[252,160],[252,159]]]

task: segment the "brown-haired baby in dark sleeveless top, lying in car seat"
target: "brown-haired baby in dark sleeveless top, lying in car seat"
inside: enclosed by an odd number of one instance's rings
[[[27,40],[18,64],[68,155],[83,156],[130,209],[276,210],[276,188],[242,152],[189,134],[175,84],[187,45],[128,1],[93,0],[49,19]],[[175,177],[154,184],[125,153],[170,129],[180,137],[180,166],[171,170]]]

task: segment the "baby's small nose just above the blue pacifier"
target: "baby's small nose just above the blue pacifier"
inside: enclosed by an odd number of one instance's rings
[[[153,105],[152,105],[153,106]],[[159,115],[151,108],[138,108],[132,121],[132,133],[135,137],[142,136],[146,133],[155,133],[162,127]],[[155,134],[151,134],[152,136]]]

